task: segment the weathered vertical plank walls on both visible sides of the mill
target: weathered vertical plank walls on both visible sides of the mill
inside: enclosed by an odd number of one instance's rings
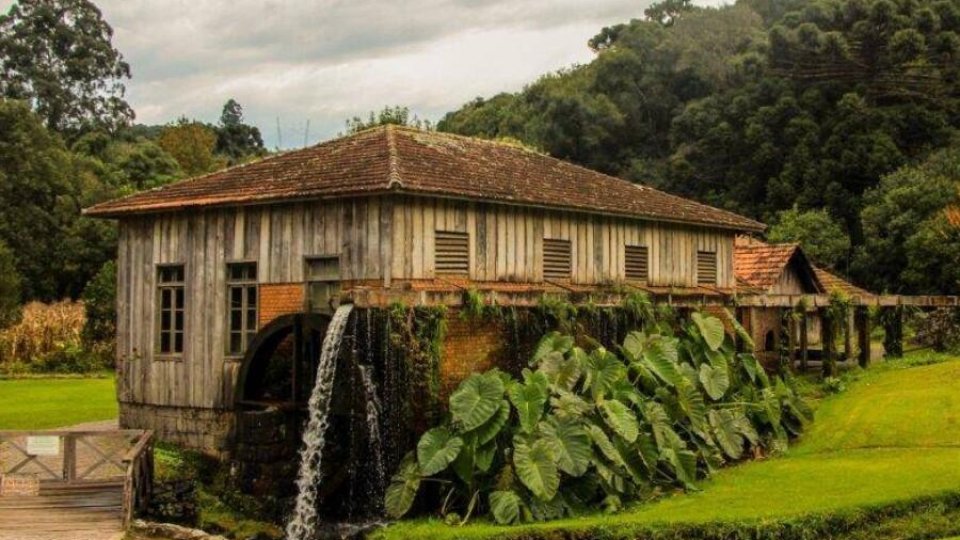
[[[123,402],[233,404],[239,362],[226,355],[226,264],[256,261],[260,283],[304,280],[304,258],[339,255],[344,280],[434,277],[434,231],[469,234],[470,278],[541,281],[543,238],[571,242],[573,281],[623,280],[624,244],[649,248],[651,285],[694,286],[696,252],[716,251],[733,287],[733,233],[487,203],[415,197],[211,209],[124,219],[118,253],[118,392]],[[186,271],[185,344],[156,348],[156,265]]]

